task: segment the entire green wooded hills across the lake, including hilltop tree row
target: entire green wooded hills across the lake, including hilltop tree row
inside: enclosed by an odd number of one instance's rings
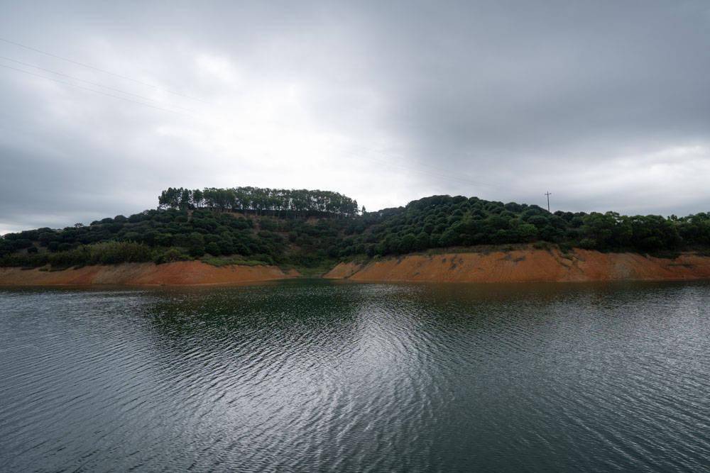
[[[644,253],[710,248],[710,215],[550,213],[535,205],[432,196],[359,214],[356,201],[326,191],[173,189],[160,208],[63,230],[0,238],[0,265],[67,267],[204,258],[212,264],[324,267],[339,258],[400,255],[471,245],[547,242],[564,250]]]

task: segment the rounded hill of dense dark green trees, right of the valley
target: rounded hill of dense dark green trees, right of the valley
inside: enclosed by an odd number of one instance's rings
[[[432,196],[353,222],[346,254],[402,254],[435,247],[544,241],[601,251],[661,252],[710,247],[710,216],[550,213],[536,205]]]

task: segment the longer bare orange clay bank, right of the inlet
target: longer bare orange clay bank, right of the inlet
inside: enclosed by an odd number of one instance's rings
[[[710,257],[685,253],[675,259],[635,253],[532,248],[512,251],[405,255],[364,265],[341,263],[329,279],[368,282],[583,282],[710,279]]]

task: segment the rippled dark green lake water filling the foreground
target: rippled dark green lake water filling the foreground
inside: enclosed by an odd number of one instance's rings
[[[0,290],[3,472],[704,472],[710,284]]]

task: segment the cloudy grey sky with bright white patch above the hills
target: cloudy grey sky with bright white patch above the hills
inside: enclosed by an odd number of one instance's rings
[[[710,211],[710,2],[0,0],[0,234],[167,187]]]

